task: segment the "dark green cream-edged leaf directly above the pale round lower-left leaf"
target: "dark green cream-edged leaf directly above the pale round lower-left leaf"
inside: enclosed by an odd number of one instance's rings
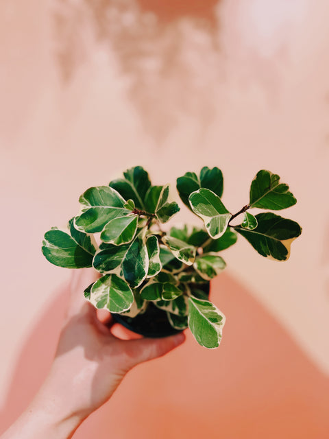
[[[95,253],[93,267],[100,273],[116,271],[121,265],[129,246],[130,244],[115,246],[114,244],[102,243]]]

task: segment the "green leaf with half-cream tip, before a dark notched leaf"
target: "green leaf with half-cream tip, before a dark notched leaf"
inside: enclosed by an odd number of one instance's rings
[[[218,195],[209,189],[199,189],[191,193],[190,204],[193,212],[204,220],[204,225],[210,237],[221,237],[232,215],[221,202]]]

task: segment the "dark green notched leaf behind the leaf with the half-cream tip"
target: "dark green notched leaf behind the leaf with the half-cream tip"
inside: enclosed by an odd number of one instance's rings
[[[210,191],[216,193],[219,197],[223,195],[223,174],[218,167],[210,169],[208,166],[205,166],[202,168],[199,177],[195,172],[186,172],[184,176],[177,179],[178,193],[180,194],[182,202],[188,206],[188,209],[191,209],[188,197],[192,192],[202,187],[210,189]]]

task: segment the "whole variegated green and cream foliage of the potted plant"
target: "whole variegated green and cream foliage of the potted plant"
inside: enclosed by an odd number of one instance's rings
[[[278,175],[266,170],[252,181],[248,204],[233,215],[221,202],[218,167],[203,167],[199,175],[186,172],[177,179],[177,189],[203,226],[162,230],[180,207],[168,201],[169,185],[152,186],[147,171],[136,166],[108,186],[87,189],[67,229],[45,233],[42,252],[60,267],[94,267],[100,273],[84,291],[98,309],[130,320],[147,318],[149,307],[160,309],[174,330],[189,327],[199,344],[216,348],[226,319],[208,292],[211,279],[226,267],[221,251],[239,234],[263,257],[286,261],[302,229],[268,211],[286,209],[296,199]],[[253,208],[265,212],[252,215]],[[240,224],[232,225],[239,215]],[[94,234],[100,234],[97,240]]]

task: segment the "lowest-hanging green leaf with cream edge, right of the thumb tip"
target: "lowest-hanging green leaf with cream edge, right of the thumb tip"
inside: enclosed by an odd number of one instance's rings
[[[225,316],[211,302],[188,298],[188,327],[201,346],[217,348],[224,324]]]

